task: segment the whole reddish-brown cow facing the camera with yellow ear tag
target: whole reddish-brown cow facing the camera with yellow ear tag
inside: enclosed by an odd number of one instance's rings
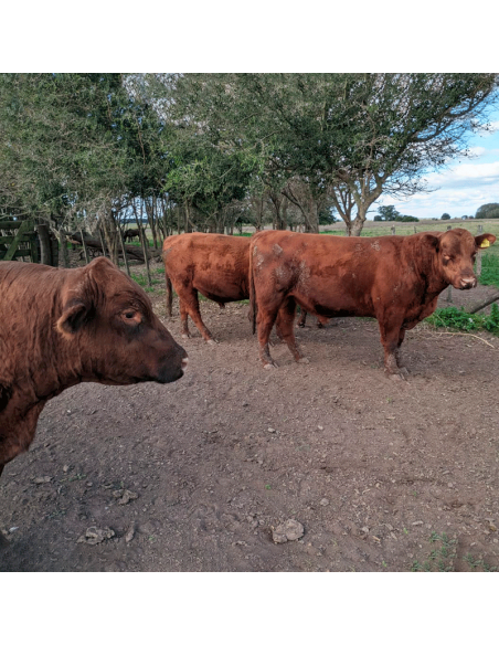
[[[264,367],[275,366],[268,337],[280,309],[282,335],[297,361],[293,322],[296,303],[315,315],[378,319],[384,368],[401,378],[400,347],[406,329],[433,314],[449,284],[475,287],[478,249],[495,235],[464,229],[385,237],[333,237],[265,231],[251,243],[251,306]]]

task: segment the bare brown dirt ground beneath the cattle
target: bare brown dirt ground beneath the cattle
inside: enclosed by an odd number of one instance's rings
[[[397,383],[373,320],[309,318],[297,338],[310,363],[276,345],[266,371],[247,305],[204,302],[202,315],[219,343],[191,322],[180,381],[84,383],[47,403],[0,479],[0,571],[499,565],[498,338],[420,325]],[[166,324],[180,340],[178,314]],[[302,537],[275,543],[289,519]]]

